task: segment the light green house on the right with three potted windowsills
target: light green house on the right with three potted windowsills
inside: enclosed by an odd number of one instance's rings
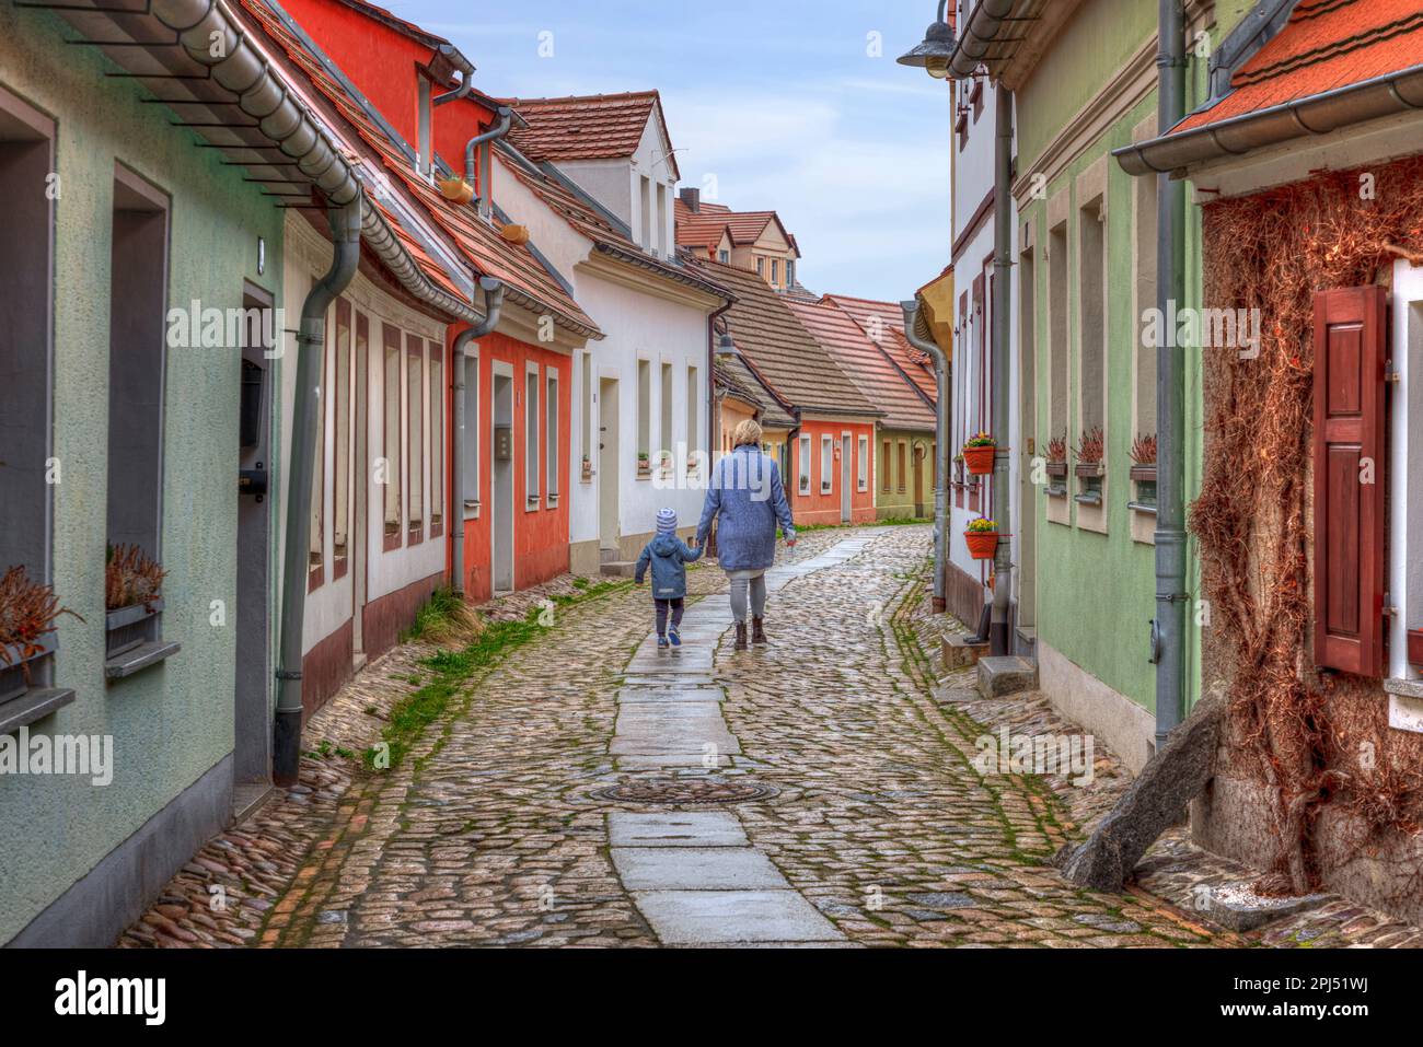
[[[1210,95],[1215,44],[1244,17],[1268,18],[1278,6],[1183,4],[1185,111]],[[1015,607],[1053,704],[1138,771],[1157,734],[1157,351],[1143,331],[1157,307],[1158,179],[1131,178],[1111,152],[1157,134],[1160,4],[1006,7],[962,0],[956,27],[961,53],[982,58],[973,78],[1012,92]],[[1200,243],[1191,209],[1177,245],[1183,310],[1200,304]],[[1201,475],[1201,350],[1180,351],[1190,505]],[[1097,430],[1100,455],[1091,447]],[[1208,609],[1194,539],[1185,551],[1188,707],[1200,693]]]

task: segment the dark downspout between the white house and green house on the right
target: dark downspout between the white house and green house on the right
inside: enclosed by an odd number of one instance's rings
[[[989,616],[989,652],[1013,653],[1013,489],[1009,447],[1009,376],[1012,366],[1013,307],[1013,92],[1002,83],[993,100],[998,127],[993,139],[993,519],[1002,538],[993,556],[993,609]]]

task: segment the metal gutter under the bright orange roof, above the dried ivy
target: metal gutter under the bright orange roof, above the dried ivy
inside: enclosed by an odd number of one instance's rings
[[[1214,159],[1417,110],[1423,110],[1423,64],[1127,145],[1111,155],[1128,175],[1180,174]]]

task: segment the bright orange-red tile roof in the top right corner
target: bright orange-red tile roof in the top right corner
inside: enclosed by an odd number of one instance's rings
[[[1301,0],[1231,77],[1234,91],[1177,124],[1191,131],[1423,63],[1419,0]]]

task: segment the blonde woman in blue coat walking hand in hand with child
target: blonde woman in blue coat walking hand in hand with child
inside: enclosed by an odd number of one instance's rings
[[[776,459],[761,454],[761,427],[747,418],[731,431],[731,454],[712,469],[696,543],[706,545],[717,521],[717,563],[731,582],[736,650],[746,650],[746,615],[751,642],[766,643],[766,569],[776,560],[776,525],[785,545],[795,545],[795,522]]]

